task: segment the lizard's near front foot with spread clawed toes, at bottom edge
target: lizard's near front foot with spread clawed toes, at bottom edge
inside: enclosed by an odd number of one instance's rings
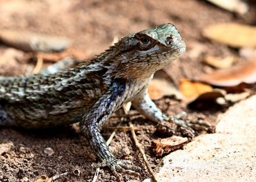
[[[117,181],[121,181],[122,176],[120,173],[137,176],[140,177],[141,168],[131,165],[129,160],[116,160],[115,158],[108,158],[102,160],[100,163],[93,163],[93,168],[98,167],[109,167],[109,169],[113,172],[113,175],[116,177]]]

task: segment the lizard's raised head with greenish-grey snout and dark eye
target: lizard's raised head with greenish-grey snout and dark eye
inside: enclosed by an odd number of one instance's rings
[[[137,80],[150,77],[186,50],[186,44],[172,24],[129,34],[116,45],[115,59],[120,63],[116,76]]]

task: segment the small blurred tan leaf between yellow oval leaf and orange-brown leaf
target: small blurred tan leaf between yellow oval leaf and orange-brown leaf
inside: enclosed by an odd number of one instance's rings
[[[232,66],[235,59],[233,56],[227,56],[225,58],[205,56],[203,61],[214,68],[229,68]]]

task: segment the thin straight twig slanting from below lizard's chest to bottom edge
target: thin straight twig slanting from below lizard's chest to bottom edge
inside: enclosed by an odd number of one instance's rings
[[[136,137],[135,130],[134,130],[134,128],[133,128],[134,126],[132,125],[131,122],[129,122],[129,126],[131,127],[132,139],[134,140],[136,147],[139,149],[139,151],[140,151],[140,153],[141,153],[141,155],[142,155],[143,161],[145,162],[145,165],[147,166],[147,169],[148,169],[149,173],[152,175],[153,181],[158,182],[159,179],[157,178],[157,176],[156,176],[156,174],[154,173],[153,169],[149,166],[147,157],[146,157],[146,155],[145,155],[143,149],[141,148],[140,143],[138,142],[138,139],[137,139],[137,137]]]

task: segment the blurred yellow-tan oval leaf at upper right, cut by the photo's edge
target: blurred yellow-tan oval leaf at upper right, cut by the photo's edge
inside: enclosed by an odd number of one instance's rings
[[[256,47],[256,27],[242,24],[213,24],[204,29],[204,36],[231,47]]]

